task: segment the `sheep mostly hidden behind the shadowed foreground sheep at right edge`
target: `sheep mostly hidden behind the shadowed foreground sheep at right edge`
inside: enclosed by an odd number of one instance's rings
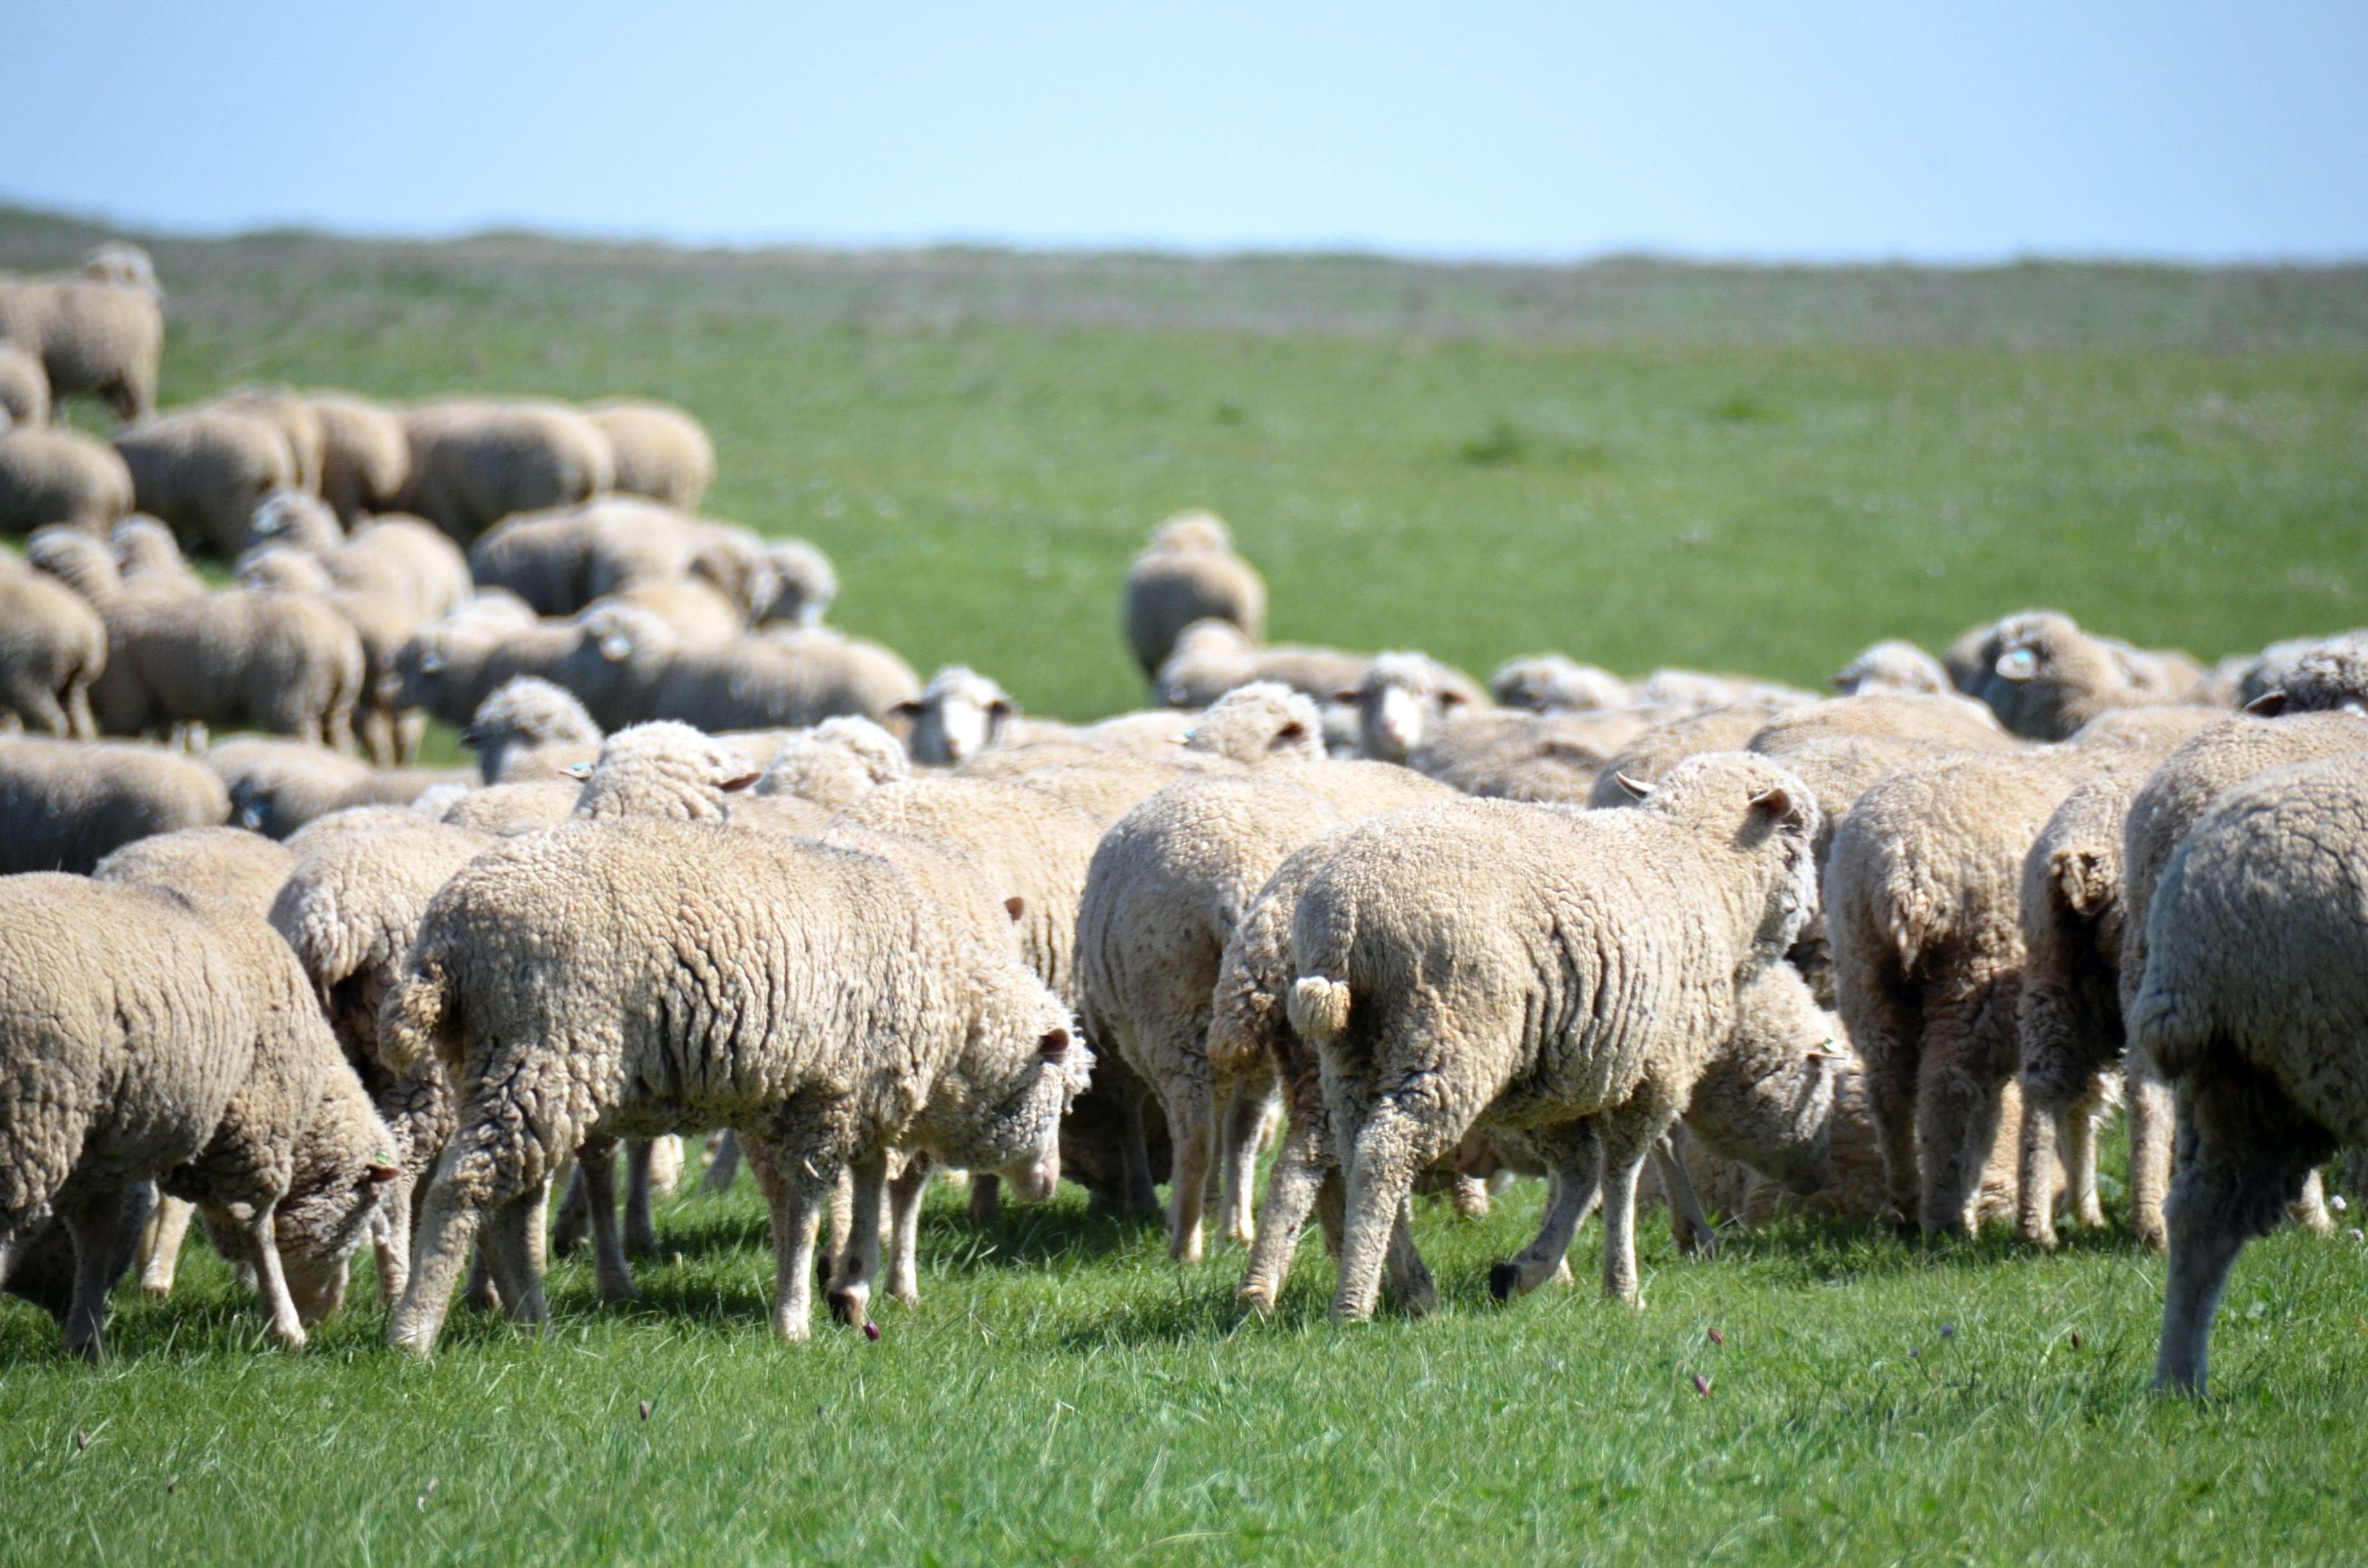
[[[2314,692],[2332,711],[2259,718],[2238,713],[2198,730],[2145,779],[2122,820],[2122,1016],[2145,973],[2155,883],[2171,853],[2212,803],[2235,784],[2290,763],[2368,748],[2368,718],[2332,703],[2342,687]],[[2171,1094],[2145,1056],[2129,1059],[2129,1213],[2141,1246],[2162,1251],[2162,1201],[2171,1180]],[[2304,1215],[2316,1220],[2316,1215]]]

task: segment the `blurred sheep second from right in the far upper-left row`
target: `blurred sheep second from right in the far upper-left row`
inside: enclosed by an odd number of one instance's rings
[[[412,464],[395,509],[459,545],[511,512],[573,507],[616,481],[609,438],[556,403],[424,403],[403,412],[403,438]]]

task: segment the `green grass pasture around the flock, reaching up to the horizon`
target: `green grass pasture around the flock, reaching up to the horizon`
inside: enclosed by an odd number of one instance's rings
[[[0,213],[0,268],[92,239]],[[680,398],[710,509],[824,545],[843,625],[1044,713],[1141,699],[1118,578],[1184,505],[1234,521],[1279,637],[1482,673],[1561,647],[1814,682],[2025,604],[2202,656],[2368,621],[2368,270],[154,251],[168,403]],[[1790,1225],[1717,1262],[1650,1234],[1643,1312],[1494,1307],[1534,1215],[1426,1208],[1442,1317],[1336,1331],[1314,1244],[1243,1322],[1238,1251],[1179,1272],[1073,1191],[978,1234],[938,1189],[926,1305],[789,1350],[744,1184],[661,1213],[639,1307],[566,1262],[545,1338],[457,1312],[431,1367],[377,1350],[367,1286],[260,1350],[194,1255],[95,1371],[0,1307],[0,1561],[2361,1556],[2354,1246],[2247,1251],[2195,1407],[2143,1395],[2162,1270],[2122,1234]]]

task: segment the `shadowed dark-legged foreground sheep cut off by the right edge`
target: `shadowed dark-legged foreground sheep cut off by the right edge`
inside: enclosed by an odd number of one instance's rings
[[[2162,869],[2129,1037],[2176,1092],[2155,1386],[2202,1393],[2250,1236],[2337,1146],[2368,1144],[2368,753],[2224,793]],[[2124,950],[2126,952],[2126,950]]]

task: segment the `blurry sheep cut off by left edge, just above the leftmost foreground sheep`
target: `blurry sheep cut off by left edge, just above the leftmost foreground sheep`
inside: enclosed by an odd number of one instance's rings
[[[152,746],[0,737],[0,874],[90,872],[107,855],[230,817],[223,782]]]

